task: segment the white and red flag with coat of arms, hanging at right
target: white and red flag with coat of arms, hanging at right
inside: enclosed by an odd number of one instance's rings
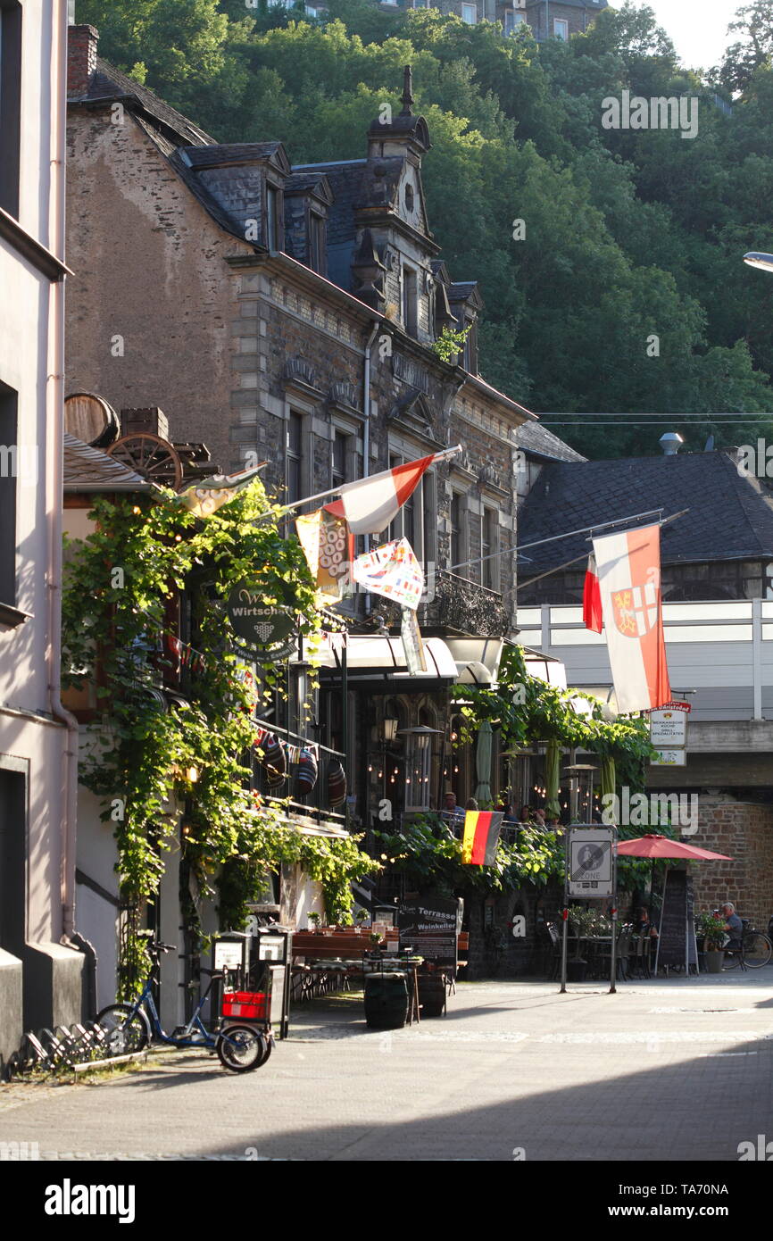
[[[593,540],[618,711],[669,702],[660,607],[660,526]]]

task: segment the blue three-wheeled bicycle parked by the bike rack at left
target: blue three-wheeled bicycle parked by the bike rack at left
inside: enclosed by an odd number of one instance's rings
[[[217,1052],[223,1069],[235,1073],[259,1069],[270,1056],[273,1036],[270,1028],[256,1030],[252,1025],[227,1024],[221,1019],[217,1030],[207,1030],[201,1020],[201,1011],[212,989],[212,983],[227,978],[227,970],[202,969],[210,974],[210,982],[190,1020],[168,1034],[159,1016],[153,998],[153,983],[158,978],[159,957],[161,953],[176,952],[172,943],[160,943],[153,939],[148,944],[153,962],[145,983],[130,1004],[108,1004],[97,1014],[97,1024],[105,1031],[108,1047],[113,1055],[127,1055],[143,1051],[153,1039],[171,1044],[174,1047],[206,1047]]]

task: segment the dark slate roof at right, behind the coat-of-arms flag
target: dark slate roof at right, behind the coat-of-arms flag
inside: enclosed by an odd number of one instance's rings
[[[664,527],[663,563],[773,555],[773,500],[722,452],[543,465],[519,510],[519,544],[659,508],[690,510]],[[529,576],[587,553],[586,537],[530,549]]]

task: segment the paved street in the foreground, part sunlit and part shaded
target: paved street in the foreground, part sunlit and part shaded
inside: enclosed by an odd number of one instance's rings
[[[444,1018],[369,1031],[351,997],[293,1015],[253,1073],[199,1052],[0,1087],[41,1159],[736,1162],[773,1139],[773,967],[573,985],[460,984]],[[772,1148],[773,1149],[773,1148]]]

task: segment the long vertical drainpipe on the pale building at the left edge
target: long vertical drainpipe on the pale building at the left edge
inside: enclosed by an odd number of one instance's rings
[[[63,20],[53,30],[51,102],[51,184],[48,191],[48,248],[65,257],[65,108],[67,82],[67,32]],[[48,514],[48,697],[55,720],[67,728],[63,762],[61,818],[62,939],[74,931],[76,814],[78,807],[78,721],[61,700],[62,660],[62,496],[65,400],[65,282],[53,280],[48,297],[48,360],[46,388],[46,508]]]

